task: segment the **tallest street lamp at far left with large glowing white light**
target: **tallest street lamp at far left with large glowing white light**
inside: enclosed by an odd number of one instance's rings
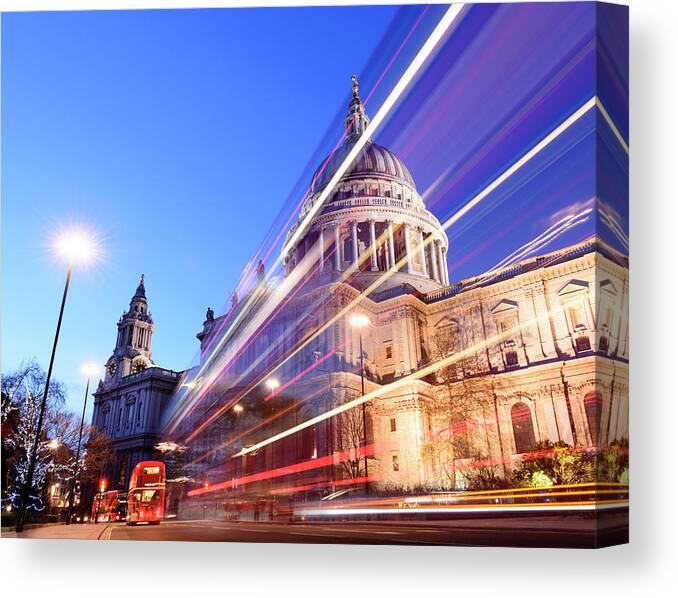
[[[31,449],[28,460],[28,471],[26,472],[26,482],[21,489],[21,505],[19,507],[19,514],[16,520],[16,531],[22,532],[24,523],[26,521],[26,509],[28,508],[28,498],[31,494],[31,487],[33,486],[33,475],[35,474],[35,462],[38,456],[38,446],[40,444],[40,436],[42,434],[42,424],[45,419],[45,409],[47,407],[47,395],[49,393],[49,383],[52,379],[52,369],[54,368],[54,357],[56,355],[56,348],[59,342],[59,332],[61,331],[61,322],[64,317],[64,307],[66,305],[66,297],[68,296],[68,287],[71,283],[71,273],[75,264],[84,264],[92,259],[96,253],[95,244],[92,239],[81,231],[72,231],[60,236],[56,242],[56,249],[58,253],[64,257],[68,263],[68,270],[66,272],[66,284],[64,285],[64,292],[61,297],[61,307],[59,308],[59,318],[57,319],[56,332],[54,333],[54,343],[52,344],[52,354],[49,359],[49,367],[47,368],[47,379],[45,380],[45,390],[42,394],[42,402],[40,403],[40,412],[38,414],[38,424],[35,428],[35,439]]]

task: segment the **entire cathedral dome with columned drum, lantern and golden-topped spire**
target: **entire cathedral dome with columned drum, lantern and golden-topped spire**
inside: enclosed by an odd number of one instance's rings
[[[400,158],[366,137],[370,119],[352,79],[344,143],[316,169],[299,218],[287,231],[285,274],[313,271],[324,284],[345,273],[342,279],[354,287],[376,282],[372,288],[379,291],[440,289],[449,284],[445,230]],[[360,151],[330,188],[357,143]]]

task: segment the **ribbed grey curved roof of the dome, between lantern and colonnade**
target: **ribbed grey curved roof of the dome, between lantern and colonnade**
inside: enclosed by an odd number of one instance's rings
[[[323,189],[351,151],[353,143],[343,144],[328,158],[325,158],[313,174],[311,194]],[[410,171],[390,149],[377,143],[367,143],[353,161],[350,168],[341,177],[341,181],[363,177],[386,177],[396,179],[414,187]]]

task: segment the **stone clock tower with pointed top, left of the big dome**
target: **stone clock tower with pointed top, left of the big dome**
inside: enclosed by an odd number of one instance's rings
[[[117,382],[154,365],[151,358],[152,338],[153,318],[148,311],[142,274],[129,309],[118,320],[118,338],[113,355],[106,362],[104,384]]]

